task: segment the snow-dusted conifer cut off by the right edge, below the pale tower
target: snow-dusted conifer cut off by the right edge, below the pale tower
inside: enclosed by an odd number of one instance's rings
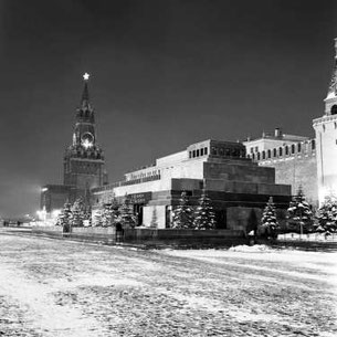
[[[330,235],[337,232],[337,200],[334,196],[327,196],[323,206],[317,211],[315,232]]]

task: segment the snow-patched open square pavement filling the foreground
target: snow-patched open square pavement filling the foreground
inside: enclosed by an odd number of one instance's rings
[[[337,336],[337,253],[138,251],[0,232],[0,336]]]

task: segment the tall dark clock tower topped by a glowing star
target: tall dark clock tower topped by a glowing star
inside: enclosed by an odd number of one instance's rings
[[[105,183],[104,154],[97,144],[95,112],[89,102],[88,74],[76,109],[73,143],[65,150],[63,183],[76,189],[76,197]]]

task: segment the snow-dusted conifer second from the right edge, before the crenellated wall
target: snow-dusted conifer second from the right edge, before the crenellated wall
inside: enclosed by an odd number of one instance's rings
[[[313,211],[303,193],[302,187],[297,194],[293,197],[287,209],[288,228],[296,230],[301,234],[307,232],[313,225]]]

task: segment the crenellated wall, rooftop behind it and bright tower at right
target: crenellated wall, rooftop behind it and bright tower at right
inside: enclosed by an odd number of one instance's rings
[[[274,167],[276,183],[292,185],[294,194],[302,186],[308,200],[318,206],[325,196],[337,194],[337,39],[335,65],[325,102],[324,115],[313,120],[315,138],[263,134],[248,139],[248,157],[260,166]]]

